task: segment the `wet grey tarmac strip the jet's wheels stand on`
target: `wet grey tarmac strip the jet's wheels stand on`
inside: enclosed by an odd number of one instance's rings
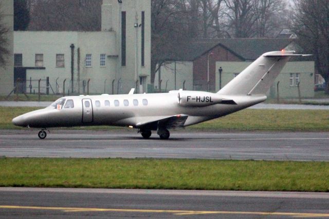
[[[232,160],[329,161],[328,132],[173,131],[169,140],[136,131],[0,130],[0,156],[155,157]]]

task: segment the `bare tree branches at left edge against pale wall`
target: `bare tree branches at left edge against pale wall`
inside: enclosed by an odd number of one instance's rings
[[[9,28],[3,23],[3,19],[4,19],[4,15],[0,11],[0,66],[6,66],[7,57],[10,54],[9,50],[7,49],[7,45],[8,45],[7,34],[9,33]]]

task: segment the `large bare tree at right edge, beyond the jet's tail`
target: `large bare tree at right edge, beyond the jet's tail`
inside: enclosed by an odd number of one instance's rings
[[[306,52],[315,56],[315,65],[329,93],[329,1],[295,0],[294,31]]]

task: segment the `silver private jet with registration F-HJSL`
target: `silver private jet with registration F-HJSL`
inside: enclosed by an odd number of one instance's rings
[[[65,96],[45,109],[13,118],[16,126],[50,127],[127,126],[144,138],[157,131],[169,138],[168,129],[218,118],[265,101],[266,92],[294,51],[267,52],[256,59],[217,93],[173,90],[169,93]]]

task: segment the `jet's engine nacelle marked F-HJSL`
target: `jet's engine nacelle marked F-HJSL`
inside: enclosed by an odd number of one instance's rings
[[[204,91],[179,91],[178,104],[183,107],[206,107],[222,102],[217,93]]]

